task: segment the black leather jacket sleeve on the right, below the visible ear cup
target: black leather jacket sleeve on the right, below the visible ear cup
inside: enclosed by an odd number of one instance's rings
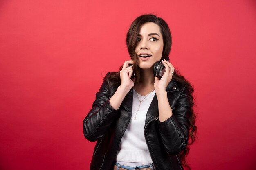
[[[186,148],[189,139],[189,117],[191,102],[187,85],[184,86],[173,110],[173,115],[159,123],[159,131],[163,145],[170,155],[179,154]]]

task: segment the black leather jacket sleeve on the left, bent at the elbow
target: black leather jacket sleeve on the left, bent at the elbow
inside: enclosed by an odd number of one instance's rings
[[[83,120],[84,136],[91,142],[103,137],[118,114],[118,110],[110,105],[109,98],[109,83],[106,80],[96,93],[92,109]]]

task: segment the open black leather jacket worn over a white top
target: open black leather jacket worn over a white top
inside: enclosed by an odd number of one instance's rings
[[[111,86],[110,81],[103,81],[92,109],[83,120],[85,138],[91,142],[97,140],[90,170],[110,170],[113,167],[121,138],[132,115],[133,88],[119,109],[115,110],[109,99],[117,87]],[[146,115],[144,136],[155,170],[183,170],[178,154],[188,143],[191,115],[188,87],[172,79],[166,92],[173,115],[164,122],[159,122],[155,94]]]

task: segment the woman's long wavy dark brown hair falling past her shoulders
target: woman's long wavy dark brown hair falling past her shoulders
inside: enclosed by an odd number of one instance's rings
[[[141,68],[139,68],[139,66],[138,66],[139,59],[137,58],[137,55],[135,53],[135,48],[137,45],[136,39],[137,39],[137,35],[139,33],[141,26],[147,22],[153,22],[153,23],[157,24],[161,29],[162,37],[164,40],[164,48],[163,48],[161,59],[168,60],[169,59],[168,56],[171,51],[172,37],[171,37],[171,31],[168,27],[168,24],[162,18],[157,17],[152,14],[141,15],[141,16],[137,17],[132,22],[132,24],[128,30],[128,33],[126,35],[126,46],[128,48],[128,52],[129,52],[131,59],[134,61],[133,71],[135,72],[135,75],[136,75],[135,85],[137,85],[137,84],[139,84],[139,82],[141,82],[141,76],[140,76]],[[119,70],[121,70],[121,69],[122,69],[122,65],[120,66]],[[112,82],[115,82],[115,83],[112,85],[116,85],[116,86],[121,85],[120,72],[110,72],[110,74],[108,74],[108,76],[105,76],[104,79],[108,79],[108,78],[114,80]],[[184,76],[182,76],[177,69],[175,69],[172,78],[175,79],[175,81],[177,81],[177,82],[188,85],[188,87],[189,87],[189,97],[190,97],[190,102],[191,102],[191,116],[189,118],[189,122],[190,122],[189,142],[188,142],[188,145],[186,146],[186,148],[184,150],[182,150],[182,152],[180,153],[180,159],[182,161],[182,165],[186,166],[189,170],[191,170],[189,165],[186,163],[186,157],[189,153],[190,145],[195,141],[196,131],[197,131],[197,127],[195,126],[196,115],[193,110],[194,98],[193,98],[192,93],[194,92],[194,89],[193,89],[191,83],[188,80],[186,80],[186,78],[184,78]]]

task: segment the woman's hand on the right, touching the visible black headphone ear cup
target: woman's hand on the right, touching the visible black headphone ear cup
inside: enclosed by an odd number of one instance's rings
[[[170,83],[172,77],[173,77],[173,72],[174,72],[174,67],[164,59],[162,63],[165,66],[165,72],[162,78],[159,80],[159,78],[155,77],[155,92],[165,92],[167,85]]]

